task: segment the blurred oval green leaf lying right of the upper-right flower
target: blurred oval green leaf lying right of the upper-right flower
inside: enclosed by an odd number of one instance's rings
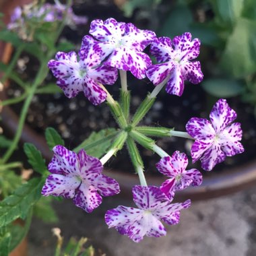
[[[241,94],[244,86],[234,79],[213,78],[202,82],[203,89],[218,98],[229,98]]]

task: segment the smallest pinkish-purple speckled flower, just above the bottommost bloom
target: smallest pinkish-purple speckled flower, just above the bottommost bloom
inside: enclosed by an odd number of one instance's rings
[[[183,190],[191,184],[193,186],[201,185],[201,172],[197,169],[186,170],[188,162],[185,153],[175,151],[172,157],[165,156],[156,164],[156,168],[162,174],[170,177],[160,187],[161,191],[169,198],[174,197],[175,191]]]

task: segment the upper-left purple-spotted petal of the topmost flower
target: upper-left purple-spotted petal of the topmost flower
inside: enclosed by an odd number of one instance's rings
[[[102,20],[93,20],[89,33],[102,42],[115,43],[117,38],[121,39],[125,33],[125,28],[124,22],[117,22],[113,18],[109,18],[104,22]]]

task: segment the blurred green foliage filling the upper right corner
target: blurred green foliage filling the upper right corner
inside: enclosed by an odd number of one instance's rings
[[[218,98],[241,96],[256,115],[255,0],[117,1],[128,18],[158,36],[191,32],[201,40],[203,89]]]

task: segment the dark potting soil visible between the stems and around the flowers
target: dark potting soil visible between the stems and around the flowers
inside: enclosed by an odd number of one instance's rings
[[[97,4],[100,6],[97,7]],[[113,17],[117,20],[129,21],[123,18],[121,11],[113,5],[112,1],[88,1],[87,5],[83,6],[75,6],[74,10],[77,14],[88,15],[90,21],[98,17],[103,20]],[[72,40],[73,43],[77,44],[77,49],[79,49],[82,37],[88,34],[90,21],[87,26],[79,27],[75,32],[66,28],[62,37]],[[19,61],[17,71],[22,73],[22,77],[24,78],[30,75],[33,77],[37,67],[36,60],[24,54]],[[56,82],[56,79],[51,74],[47,77],[45,84],[49,82]],[[131,114],[133,114],[140,102],[145,98],[147,92],[151,92],[154,86],[148,79],[139,81],[130,73],[128,73],[128,84],[132,95]],[[119,97],[119,81],[114,86],[106,86],[106,88],[110,94],[113,94],[115,99]],[[20,93],[20,89],[15,84],[11,84],[7,90],[7,96],[9,98],[18,96]],[[148,115],[141,121],[141,125],[174,127],[177,131],[185,131],[185,125],[191,117],[209,119],[210,110],[217,100],[217,98],[207,96],[200,85],[190,83],[186,84],[185,92],[181,97],[166,94],[163,90]],[[253,107],[241,102],[239,97],[228,99],[228,104],[236,110],[238,115],[236,122],[242,124],[242,143],[245,147],[245,152],[226,158],[223,163],[218,164],[214,169],[217,172],[224,168],[232,168],[232,166],[243,164],[255,157],[256,121],[253,115]],[[13,106],[16,113],[19,113],[21,107],[22,104]],[[54,127],[61,133],[63,139],[65,139],[65,146],[69,149],[75,148],[92,131],[117,127],[105,103],[100,106],[94,106],[82,93],[72,99],[66,98],[63,94],[38,94],[34,96],[26,122],[41,135],[44,134],[46,127]],[[166,137],[158,139],[157,143],[168,154],[179,150],[190,155],[189,152],[193,141],[179,137]],[[160,158],[156,154],[152,154],[152,152],[144,150],[141,147],[139,147],[139,150],[141,151],[146,170],[152,174],[157,174],[158,171],[156,170],[155,164]],[[131,162],[127,161],[127,159],[129,159],[129,156],[127,150],[124,148],[117,154],[116,158],[110,160],[107,166],[119,169],[120,171],[134,172]],[[124,162],[127,162],[127,164],[123,164]],[[189,168],[192,168],[192,166],[201,170],[199,162],[192,165],[190,158]]]

